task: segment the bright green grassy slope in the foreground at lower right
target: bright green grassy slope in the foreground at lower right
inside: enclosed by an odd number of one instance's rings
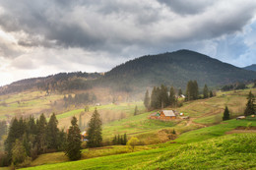
[[[182,169],[183,166],[183,169],[200,169],[203,162],[203,169],[255,168],[256,134],[225,136],[226,132],[237,126],[246,127],[250,122],[225,121],[220,125],[184,133],[174,143],[155,144],[155,149],[48,164],[31,169]],[[252,122],[251,126],[256,126],[256,122]],[[46,157],[53,156],[50,154]]]

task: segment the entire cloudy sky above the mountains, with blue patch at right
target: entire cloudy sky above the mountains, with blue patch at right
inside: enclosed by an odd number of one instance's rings
[[[256,63],[256,1],[0,0],[0,85],[178,49]]]

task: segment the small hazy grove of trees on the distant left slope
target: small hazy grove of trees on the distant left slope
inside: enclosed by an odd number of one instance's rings
[[[75,94],[74,97],[72,97],[71,94],[68,96],[64,95],[64,106],[68,107],[69,105],[75,104],[75,105],[81,105],[81,104],[88,104],[96,101],[96,94],[95,93],[81,93],[81,94]]]

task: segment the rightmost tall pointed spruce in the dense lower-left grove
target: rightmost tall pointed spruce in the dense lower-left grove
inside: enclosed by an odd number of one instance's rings
[[[58,149],[59,147],[59,129],[58,129],[58,120],[54,113],[52,113],[49,123],[46,126],[46,142],[47,147],[50,149]]]

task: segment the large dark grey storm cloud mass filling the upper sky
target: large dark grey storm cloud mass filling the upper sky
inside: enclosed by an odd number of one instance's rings
[[[23,46],[117,53],[127,46],[151,48],[239,31],[253,17],[255,3],[237,2],[233,4],[239,8],[209,0],[21,0],[15,5],[1,0],[5,13],[0,25],[6,31],[25,31],[28,37],[19,39]]]

